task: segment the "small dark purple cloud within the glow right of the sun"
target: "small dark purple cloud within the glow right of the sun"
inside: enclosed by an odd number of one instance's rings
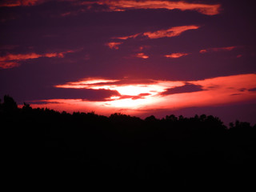
[[[167,89],[165,92],[162,92],[162,95],[166,94],[183,94],[202,91],[202,86],[186,83],[185,86],[175,86],[174,88]]]

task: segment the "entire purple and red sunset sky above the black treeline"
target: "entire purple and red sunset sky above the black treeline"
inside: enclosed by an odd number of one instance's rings
[[[250,0],[1,0],[0,97],[62,112],[256,123]]]

